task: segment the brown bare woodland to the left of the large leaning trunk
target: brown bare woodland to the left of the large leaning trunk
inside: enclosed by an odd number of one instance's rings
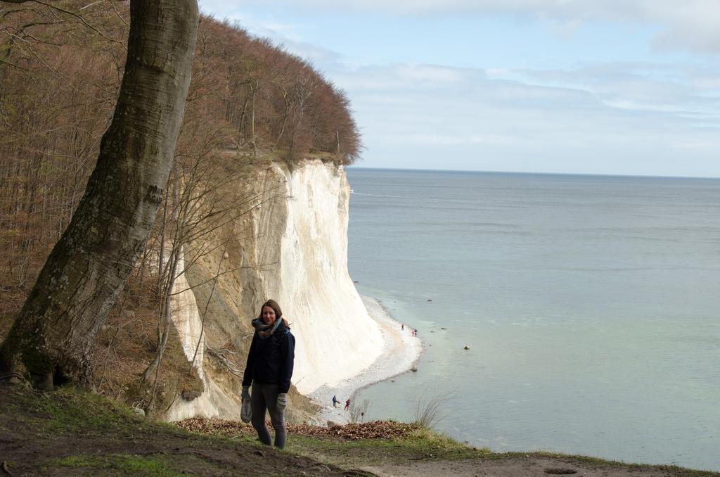
[[[127,27],[112,12],[88,9],[80,18],[34,3],[0,15],[0,248],[6,251],[0,284],[10,295],[2,300],[0,331],[6,331],[84,192],[112,114]]]

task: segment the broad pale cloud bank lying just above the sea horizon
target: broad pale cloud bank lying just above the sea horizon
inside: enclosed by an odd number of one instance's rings
[[[662,65],[493,72],[503,79],[448,68],[442,87],[419,79],[410,88],[406,68],[346,72],[354,86],[338,80],[354,98],[366,166],[390,156],[398,167],[719,175],[720,104]]]

